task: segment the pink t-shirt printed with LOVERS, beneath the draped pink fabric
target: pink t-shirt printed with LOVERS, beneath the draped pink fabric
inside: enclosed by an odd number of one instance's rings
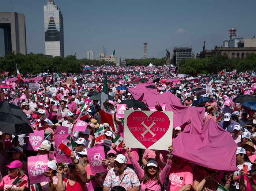
[[[193,172],[189,165],[186,165],[182,169],[178,169],[175,163],[172,163],[172,167],[169,171],[169,184],[167,191],[179,190],[185,184],[193,185]]]

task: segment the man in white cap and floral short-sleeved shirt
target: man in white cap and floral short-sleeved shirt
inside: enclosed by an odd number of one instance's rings
[[[125,155],[117,155],[114,168],[108,171],[103,183],[103,191],[109,191],[114,186],[122,186],[125,190],[138,190],[140,181],[133,169],[127,167],[127,157]]]

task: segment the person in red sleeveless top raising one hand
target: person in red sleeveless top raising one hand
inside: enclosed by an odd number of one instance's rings
[[[68,164],[68,178],[62,179],[63,166],[58,166],[57,172],[59,173],[59,180],[57,183],[57,191],[71,191],[71,190],[85,190],[85,183],[87,181],[86,170],[83,161],[76,159],[75,153],[70,153],[73,164]]]

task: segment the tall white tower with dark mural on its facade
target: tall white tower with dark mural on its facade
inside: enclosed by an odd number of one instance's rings
[[[45,54],[64,57],[63,15],[53,0],[44,5]]]

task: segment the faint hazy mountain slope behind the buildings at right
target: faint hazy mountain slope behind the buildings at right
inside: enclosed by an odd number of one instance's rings
[[[166,49],[169,50],[170,55],[172,56],[173,54],[173,48],[178,46],[178,47],[190,47],[192,46],[192,51],[196,56],[196,53],[200,53],[200,51],[203,50],[203,45],[204,45],[204,40],[206,41],[205,46],[207,50],[214,49],[214,46],[222,46],[223,41],[227,39],[227,36],[221,36],[220,34],[215,34],[211,33],[206,36],[202,36],[202,38],[195,39],[191,42],[183,43],[183,44],[178,44],[174,45],[171,47],[168,47]],[[160,52],[155,53],[154,55],[150,56],[149,58],[162,58],[163,56],[166,55],[166,50],[162,50]]]

